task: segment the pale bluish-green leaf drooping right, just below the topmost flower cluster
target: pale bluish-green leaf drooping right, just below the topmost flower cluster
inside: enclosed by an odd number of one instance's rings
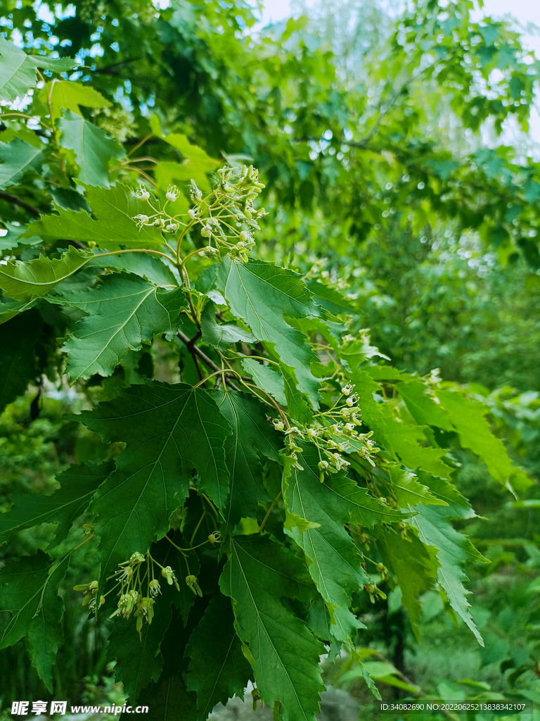
[[[288,366],[298,388],[318,405],[320,381],[312,375],[311,363],[318,356],[305,335],[289,325],[289,318],[330,317],[315,304],[302,277],[292,270],[263,260],[241,263],[225,257],[216,270],[217,287],[227,299],[233,315],[243,319],[253,335],[274,350]]]

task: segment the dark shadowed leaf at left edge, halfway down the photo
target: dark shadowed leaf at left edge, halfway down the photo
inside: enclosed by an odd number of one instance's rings
[[[0,309],[2,306],[4,304]],[[34,348],[42,326],[40,314],[32,311],[12,317],[0,327],[0,413],[26,391],[39,373]]]

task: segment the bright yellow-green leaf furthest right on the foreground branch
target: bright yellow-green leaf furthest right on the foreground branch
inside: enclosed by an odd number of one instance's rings
[[[452,391],[437,391],[442,407],[451,417],[464,448],[470,448],[485,462],[488,472],[503,485],[507,484],[520,469],[512,465],[503,443],[493,435],[485,415],[490,409]],[[532,480],[522,474],[520,485],[531,485]]]

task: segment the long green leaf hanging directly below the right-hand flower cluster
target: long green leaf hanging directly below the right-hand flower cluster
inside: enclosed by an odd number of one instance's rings
[[[311,577],[328,606],[330,632],[338,641],[354,645],[358,629],[365,626],[349,610],[351,596],[370,581],[361,566],[361,554],[344,528],[350,520],[347,504],[336,503],[330,487],[320,482],[318,462],[318,449],[306,444],[300,461],[303,470],[286,466],[283,498],[287,509],[318,523],[317,528],[303,531],[302,526],[289,528],[289,535],[305,553]]]

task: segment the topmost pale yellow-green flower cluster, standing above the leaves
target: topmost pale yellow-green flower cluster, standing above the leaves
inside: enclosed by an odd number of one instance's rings
[[[204,197],[194,180],[191,181],[189,196],[194,207],[187,213],[170,215],[168,203],[174,203],[181,195],[176,185],[169,185],[165,194],[166,203],[158,208],[156,200],[144,185],[133,192],[135,198],[148,203],[148,213],[139,213],[133,220],[139,229],[153,226],[170,234],[179,234],[179,243],[188,231],[196,228],[208,244],[197,252],[201,256],[215,258],[229,253],[242,262],[248,260],[248,251],[255,246],[253,231],[260,230],[257,220],[266,215],[262,208],[253,208],[255,200],[264,185],[253,165],[245,165],[239,171],[224,167],[215,173],[215,187]]]

